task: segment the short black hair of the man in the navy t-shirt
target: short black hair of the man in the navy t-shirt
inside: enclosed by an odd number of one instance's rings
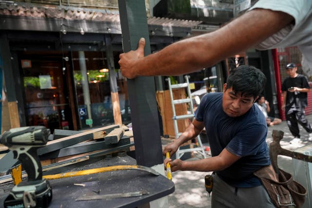
[[[254,98],[264,90],[267,78],[253,66],[240,65],[235,68],[228,77],[226,89],[233,87],[234,93],[241,96],[253,96]]]

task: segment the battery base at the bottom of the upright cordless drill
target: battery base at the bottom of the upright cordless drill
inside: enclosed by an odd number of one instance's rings
[[[47,208],[52,188],[46,179],[22,181],[14,186],[4,201],[4,208]]]

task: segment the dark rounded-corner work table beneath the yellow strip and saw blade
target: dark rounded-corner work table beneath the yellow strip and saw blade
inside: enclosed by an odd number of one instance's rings
[[[44,172],[43,175],[59,172],[87,170],[93,168],[136,165],[136,160],[130,156],[115,156],[111,159],[105,157],[94,158],[63,168]],[[64,171],[66,169],[66,171]],[[90,175],[76,176],[49,180],[52,186],[53,198],[49,208],[136,208],[150,201],[173,193],[174,183],[163,175],[154,175],[142,170],[117,170]],[[79,186],[74,184],[83,184]],[[13,183],[0,185],[0,207],[13,188]],[[148,194],[137,197],[101,199],[92,201],[76,201],[85,195],[126,193],[134,191],[147,191]]]

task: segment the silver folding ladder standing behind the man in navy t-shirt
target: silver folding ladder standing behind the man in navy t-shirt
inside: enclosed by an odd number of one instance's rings
[[[172,112],[173,112],[173,118],[172,119],[174,120],[174,128],[175,128],[176,139],[182,134],[182,132],[179,132],[179,130],[178,130],[177,120],[182,120],[182,119],[191,119],[191,120],[193,120],[194,117],[195,117],[193,100],[192,100],[192,97],[191,97],[189,76],[186,75],[184,77],[185,77],[186,83],[180,83],[180,84],[171,84],[170,78],[167,78],[168,84],[169,84],[170,97],[171,97],[171,106],[172,106]],[[174,100],[174,96],[173,96],[172,90],[173,89],[178,89],[178,88],[186,88],[187,89],[188,98]],[[190,114],[176,115],[176,107],[175,107],[175,105],[176,104],[182,104],[182,103],[190,103],[190,110],[191,110]],[[207,156],[206,156],[205,150],[203,148],[203,145],[201,143],[199,135],[197,136],[197,143],[198,143],[197,146],[199,146],[197,148],[182,149],[182,150],[180,148],[178,148],[178,150],[176,151],[176,158],[179,159],[179,158],[181,158],[183,156],[184,153],[190,152],[190,151],[197,151],[204,158],[206,158]]]

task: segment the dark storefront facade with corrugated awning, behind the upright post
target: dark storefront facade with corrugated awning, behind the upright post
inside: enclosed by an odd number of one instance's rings
[[[123,53],[117,0],[28,2],[0,1],[7,110],[1,131],[131,122],[127,82],[117,63]],[[152,51],[190,36],[200,23],[149,16],[147,9]]]

